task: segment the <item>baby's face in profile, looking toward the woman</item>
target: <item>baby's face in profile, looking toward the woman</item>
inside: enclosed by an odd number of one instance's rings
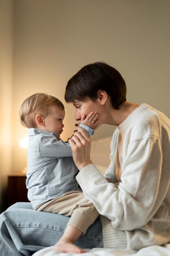
[[[51,106],[48,115],[44,118],[44,128],[47,132],[55,132],[57,139],[63,131],[63,120],[65,117],[65,110],[58,106]]]

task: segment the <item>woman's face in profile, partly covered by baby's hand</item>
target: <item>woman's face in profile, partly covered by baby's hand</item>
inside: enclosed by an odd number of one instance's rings
[[[97,129],[102,124],[102,119],[100,116],[100,104],[99,101],[92,101],[87,98],[86,101],[74,101],[73,106],[75,107],[75,120],[80,121],[82,115],[84,114],[86,117],[93,111],[97,112],[99,115],[99,123],[95,126],[94,130]]]

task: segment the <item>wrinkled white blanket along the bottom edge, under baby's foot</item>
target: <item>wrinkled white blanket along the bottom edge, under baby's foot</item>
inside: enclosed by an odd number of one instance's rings
[[[53,246],[42,249],[35,252],[33,256],[170,256],[170,244],[164,246],[153,245],[136,250],[117,250],[117,249],[106,249],[106,248],[93,248],[87,249],[86,253],[74,254],[74,253],[61,253],[54,252]]]

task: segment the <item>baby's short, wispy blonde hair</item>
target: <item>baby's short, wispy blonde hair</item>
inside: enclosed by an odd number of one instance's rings
[[[20,107],[21,124],[27,128],[36,128],[36,115],[39,114],[46,117],[52,105],[56,105],[64,110],[63,103],[49,94],[35,93],[26,98]]]

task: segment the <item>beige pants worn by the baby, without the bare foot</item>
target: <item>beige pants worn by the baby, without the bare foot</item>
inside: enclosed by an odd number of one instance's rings
[[[67,225],[76,227],[83,234],[99,216],[93,203],[84,196],[82,191],[65,193],[58,198],[39,204],[34,210],[71,216]]]

